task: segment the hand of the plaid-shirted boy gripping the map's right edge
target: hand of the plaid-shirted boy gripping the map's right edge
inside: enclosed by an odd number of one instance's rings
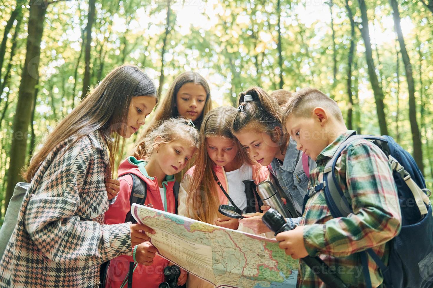
[[[293,259],[308,256],[304,245],[304,226],[296,226],[293,230],[277,234],[277,241],[280,241],[280,248],[286,250],[286,254]]]

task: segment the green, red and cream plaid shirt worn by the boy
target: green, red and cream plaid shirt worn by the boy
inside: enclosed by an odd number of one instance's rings
[[[339,136],[317,156],[317,168],[311,171],[311,186],[323,181],[326,162],[350,133]],[[389,245],[401,228],[400,206],[391,167],[386,155],[373,143],[355,140],[343,150],[336,164],[336,178],[353,213],[333,218],[323,190],[309,190],[300,225],[310,256],[320,258],[351,287],[365,287],[361,260],[353,254],[372,248],[388,263]],[[383,278],[374,260],[368,256],[372,286],[379,287]],[[300,261],[298,287],[325,287],[305,263]]]

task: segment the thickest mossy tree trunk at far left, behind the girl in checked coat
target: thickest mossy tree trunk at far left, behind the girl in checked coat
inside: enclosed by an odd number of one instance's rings
[[[31,1],[29,9],[29,24],[27,36],[26,60],[21,73],[19,85],[18,103],[16,105],[16,116],[13,118],[13,138],[10,155],[10,165],[8,170],[5,210],[9,205],[10,197],[17,182],[23,178],[20,175],[24,168],[27,151],[27,133],[36,83],[39,79],[39,57],[41,54],[41,40],[44,32],[43,23],[47,2]]]

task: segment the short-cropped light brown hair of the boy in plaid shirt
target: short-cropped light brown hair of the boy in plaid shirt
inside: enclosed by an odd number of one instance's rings
[[[343,122],[343,114],[336,101],[326,96],[323,92],[313,88],[304,88],[292,94],[283,108],[283,120],[289,116],[308,116],[314,108],[322,107],[332,114],[336,120]]]

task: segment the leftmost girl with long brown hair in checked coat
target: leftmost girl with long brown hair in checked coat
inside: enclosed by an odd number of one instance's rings
[[[30,186],[0,260],[0,286],[97,287],[100,264],[149,240],[140,232],[153,233],[145,225],[103,224],[104,179],[122,139],[145,123],[157,101],[142,70],[120,66],[58,123],[26,171]]]

